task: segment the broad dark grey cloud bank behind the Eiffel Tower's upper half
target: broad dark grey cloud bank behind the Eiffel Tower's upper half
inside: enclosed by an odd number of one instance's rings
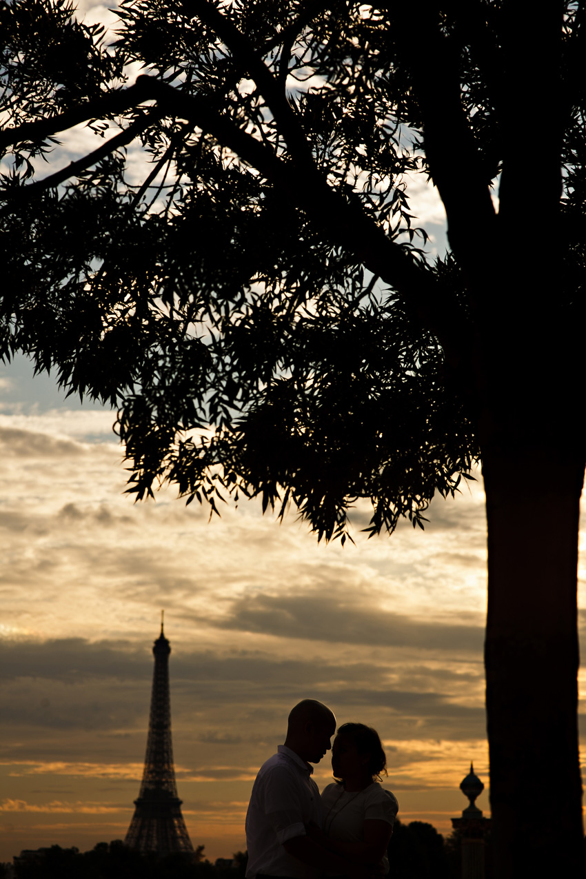
[[[0,710],[5,728],[37,740],[37,753],[41,741],[47,753],[46,736],[54,753],[59,735],[76,730],[141,737],[152,663],[148,650],[126,643],[82,638],[4,643]],[[392,716],[395,736],[412,735],[414,723],[420,734],[433,729],[443,736],[452,730],[461,737],[474,728],[475,735],[483,735],[482,708],[476,700],[468,705],[459,700],[463,687],[477,687],[481,667],[467,666],[461,673],[416,664],[389,670],[376,663],[347,663],[343,654],[316,663],[314,657],[279,659],[251,651],[221,657],[179,650],[171,655],[170,674],[177,734],[216,749],[279,737],[288,708],[308,694],[334,705],[343,720]]]

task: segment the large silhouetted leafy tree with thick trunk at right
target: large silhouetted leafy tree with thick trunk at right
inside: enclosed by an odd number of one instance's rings
[[[3,356],[118,407],[137,498],[260,495],[328,540],[355,498],[421,525],[481,459],[496,875],[582,875],[584,4],[123,0],[110,48],[67,0],[0,11]]]

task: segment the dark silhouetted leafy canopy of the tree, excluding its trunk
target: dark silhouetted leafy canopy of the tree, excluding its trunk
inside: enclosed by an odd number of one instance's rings
[[[356,498],[372,499],[373,531],[401,515],[421,524],[478,445],[438,338],[388,286],[398,268],[423,300],[445,290],[467,321],[459,269],[428,263],[409,213],[404,175],[425,160],[391,13],[247,3],[220,17],[211,4],[127,2],[112,51],[70,11],[4,6],[5,94],[18,112],[3,355],[30,352],[71,391],[119,408],[139,498],[170,480],[213,508],[220,492],[280,512],[291,500],[328,539],[345,534]],[[63,47],[85,46],[81,103],[61,85],[67,69],[42,55],[20,72],[18,39],[34,47],[54,30]],[[121,112],[130,62],[149,77]],[[31,185],[59,113],[99,116],[102,136],[134,134],[146,178],[134,182],[114,144],[74,179]],[[14,141],[19,128],[30,140]]]

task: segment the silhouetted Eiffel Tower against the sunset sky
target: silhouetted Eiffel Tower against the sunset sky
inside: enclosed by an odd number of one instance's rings
[[[169,694],[170,643],[161,635],[153,646],[155,671],[150,699],[147,753],[144,759],[141,790],[134,800],[135,810],[124,840],[125,845],[140,852],[193,852],[192,840],[181,814],[177,796]]]

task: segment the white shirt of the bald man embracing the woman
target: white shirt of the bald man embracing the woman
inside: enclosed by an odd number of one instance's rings
[[[247,877],[265,873],[316,879],[321,871],[287,854],[283,843],[305,836],[305,825],[322,826],[319,788],[309,766],[286,745],[260,767],[246,814],[246,843],[249,850]]]

